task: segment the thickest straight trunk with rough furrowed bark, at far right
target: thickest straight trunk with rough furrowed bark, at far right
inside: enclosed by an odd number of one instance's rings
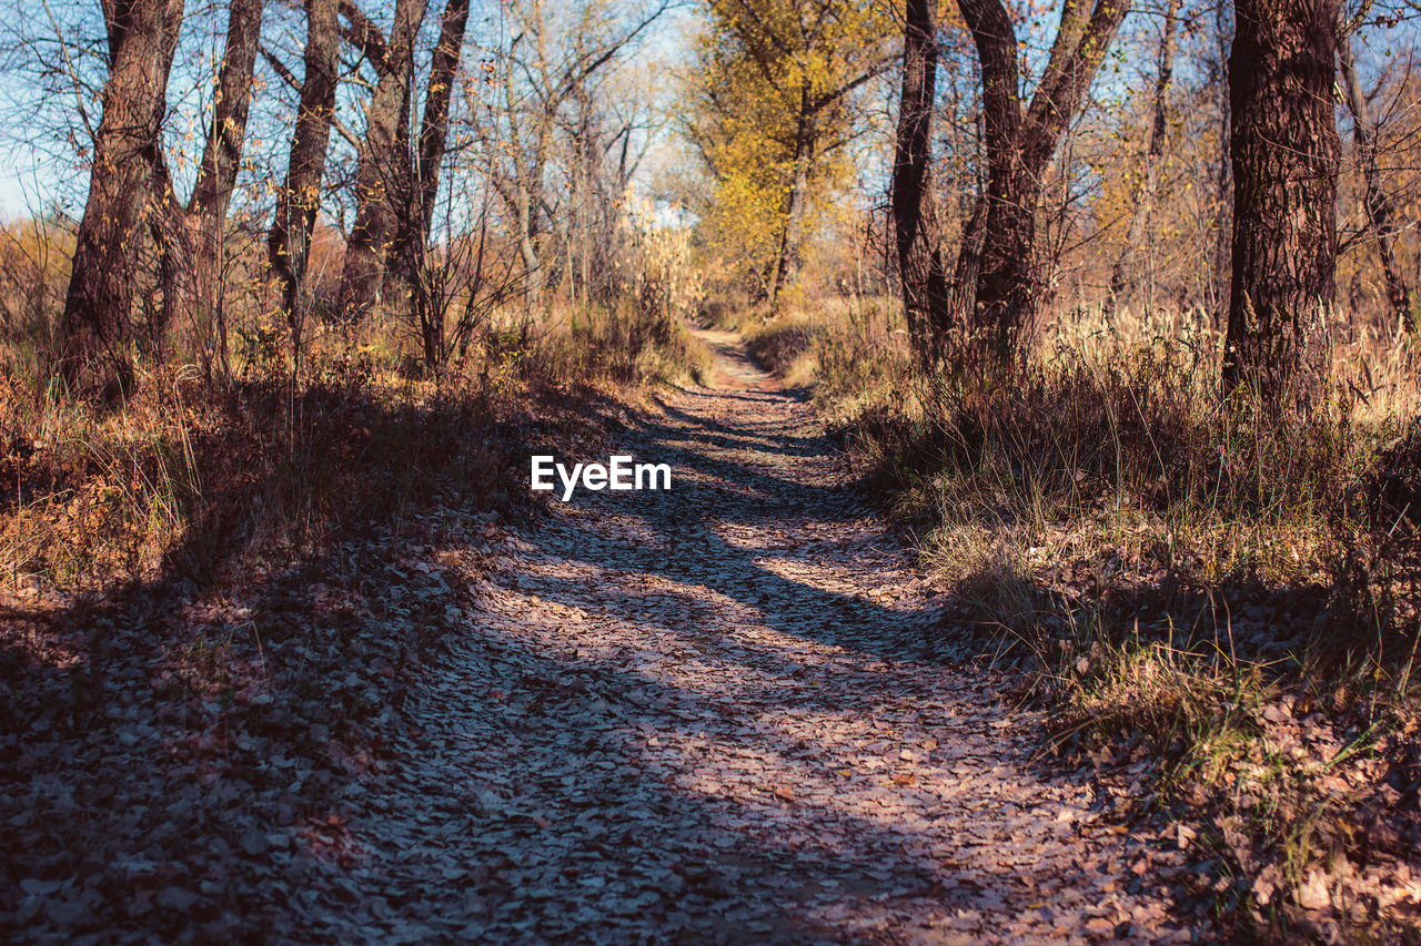
[[[1336,286],[1339,0],[1235,0],[1233,277],[1223,388],[1307,411],[1329,369]]]

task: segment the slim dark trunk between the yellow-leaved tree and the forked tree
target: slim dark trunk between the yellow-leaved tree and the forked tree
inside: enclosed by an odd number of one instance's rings
[[[942,234],[932,196],[932,108],[938,80],[935,0],[908,0],[902,94],[892,165],[894,246],[902,305],[914,348],[925,366],[951,328]]]

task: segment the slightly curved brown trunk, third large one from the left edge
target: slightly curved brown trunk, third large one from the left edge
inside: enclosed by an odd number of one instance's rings
[[[291,328],[291,349],[300,362],[301,327],[310,308],[306,266],[311,232],[321,206],[325,151],[335,118],[340,67],[338,0],[306,0],[306,77],[291,135],[286,183],[276,195],[267,251],[281,283],[281,308]]]

